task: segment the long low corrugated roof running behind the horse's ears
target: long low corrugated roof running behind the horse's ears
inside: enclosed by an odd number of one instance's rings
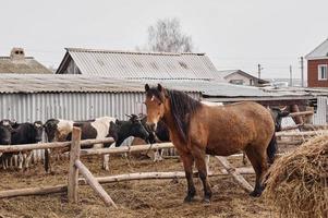
[[[210,97],[311,96],[307,92],[289,92],[233,85],[217,81],[118,80],[106,76],[69,74],[0,74],[0,93],[143,93],[145,83],[202,93]]]

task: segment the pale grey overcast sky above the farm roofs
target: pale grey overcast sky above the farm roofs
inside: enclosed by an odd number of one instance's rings
[[[65,47],[134,50],[158,19],[178,17],[218,70],[300,77],[301,56],[328,37],[328,0],[2,0],[0,56],[24,47],[57,68]]]

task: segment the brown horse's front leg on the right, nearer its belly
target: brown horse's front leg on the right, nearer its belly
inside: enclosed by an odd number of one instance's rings
[[[195,158],[196,168],[204,186],[204,203],[209,203],[211,197],[211,190],[207,179],[207,165],[205,161],[205,152],[196,146],[193,146],[192,154]]]

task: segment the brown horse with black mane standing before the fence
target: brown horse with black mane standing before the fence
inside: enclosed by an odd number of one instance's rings
[[[211,190],[207,180],[205,154],[229,156],[244,150],[256,172],[252,196],[263,191],[262,180],[276,153],[275,123],[270,112],[256,102],[206,106],[178,90],[145,85],[147,123],[156,129],[162,120],[183,161],[187,181],[185,202],[196,194],[193,182],[195,161],[204,185],[204,202]],[[269,158],[269,159],[268,159]]]

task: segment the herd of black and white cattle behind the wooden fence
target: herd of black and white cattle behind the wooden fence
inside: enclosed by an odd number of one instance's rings
[[[280,109],[271,109],[272,119],[276,123],[276,131],[281,130],[281,120],[289,113]],[[146,125],[145,116],[129,116],[129,120],[118,120],[112,117],[101,117],[87,121],[69,121],[50,119],[46,123],[36,121],[34,123],[17,123],[11,120],[0,121],[0,145],[21,145],[35,144],[42,141],[44,132],[47,142],[64,142],[70,141],[73,126],[82,130],[82,140],[113,137],[114,146],[120,146],[123,141],[130,136],[143,138],[147,143],[169,142],[169,131],[163,122],[159,122],[155,132]],[[96,144],[93,147],[110,147],[112,144]],[[87,147],[84,147],[87,148]],[[45,169],[50,170],[51,159],[54,155],[66,150],[45,150]],[[32,158],[32,152],[23,153],[0,153],[2,169],[9,168],[10,159],[17,155],[19,169],[27,169]],[[109,170],[108,155],[104,156],[102,168]]]

